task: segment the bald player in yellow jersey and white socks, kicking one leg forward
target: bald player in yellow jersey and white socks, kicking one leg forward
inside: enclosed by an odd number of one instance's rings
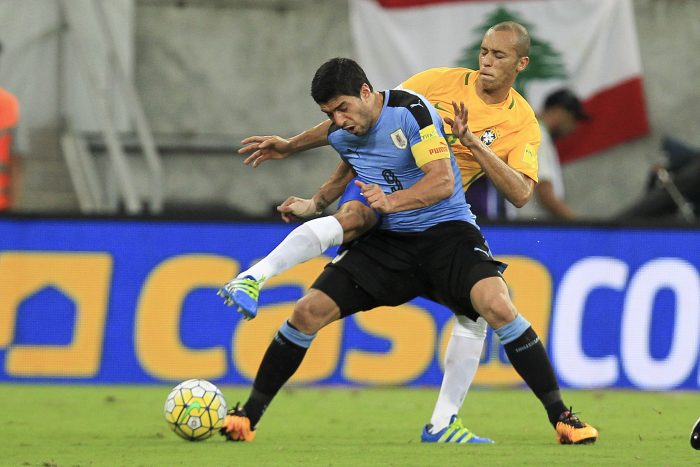
[[[518,73],[529,62],[529,45],[528,32],[522,25],[511,21],[499,23],[483,37],[478,71],[436,68],[418,73],[399,86],[424,95],[443,117],[446,128],[453,128],[454,134],[447,137],[467,190],[467,202],[469,185],[483,175],[516,207],[525,205],[532,196],[537,182],[539,126],[529,104],[512,88]],[[244,162],[253,167],[265,160],[283,159],[294,152],[328,144],[330,124],[330,121],[322,122],[288,140],[279,136],[252,136],[243,140],[246,146],[239,152],[250,154]],[[259,289],[267,279],[374,227],[378,218],[375,211],[358,193],[348,195],[354,177],[349,166],[341,163],[311,199],[292,196],[278,206],[287,222],[306,219],[318,216],[342,194],[333,216],[313,219],[297,227],[268,256],[225,284],[219,292],[225,303],[237,306],[248,318],[254,317]],[[430,423],[423,429],[423,442],[491,442],[469,432],[457,417],[474,379],[485,336],[483,319],[472,321],[457,316],[445,356],[440,394]],[[565,410],[558,393],[557,389],[551,394],[538,393],[538,397],[559,442],[594,442],[598,436],[595,428]]]

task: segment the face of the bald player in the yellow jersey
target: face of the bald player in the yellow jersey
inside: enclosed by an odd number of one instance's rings
[[[525,69],[528,57],[519,57],[515,33],[490,30],[484,35],[479,52],[479,80],[487,91],[508,89]]]

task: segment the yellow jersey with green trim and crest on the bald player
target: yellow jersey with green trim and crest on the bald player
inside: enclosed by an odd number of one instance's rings
[[[509,166],[537,181],[540,129],[530,104],[514,89],[502,103],[486,104],[476,94],[478,76],[478,71],[468,68],[431,68],[413,75],[399,88],[426,96],[440,117],[454,119],[452,101],[458,104],[463,101],[469,111],[467,120],[471,132]],[[462,172],[464,190],[467,190],[484,172],[459,139],[451,133],[446,133],[446,138]]]

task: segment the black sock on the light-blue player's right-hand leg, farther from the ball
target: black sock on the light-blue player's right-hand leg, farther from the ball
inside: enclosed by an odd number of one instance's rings
[[[520,337],[503,347],[513,368],[542,402],[549,422],[555,426],[566,406],[542,341],[529,327]]]

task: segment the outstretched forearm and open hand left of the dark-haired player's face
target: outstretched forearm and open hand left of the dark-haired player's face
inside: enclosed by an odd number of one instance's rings
[[[325,120],[289,139],[279,136],[249,136],[241,141],[245,146],[239,149],[238,153],[250,154],[243,163],[257,167],[269,159],[284,159],[295,152],[325,146],[328,144],[330,126],[331,121]]]

